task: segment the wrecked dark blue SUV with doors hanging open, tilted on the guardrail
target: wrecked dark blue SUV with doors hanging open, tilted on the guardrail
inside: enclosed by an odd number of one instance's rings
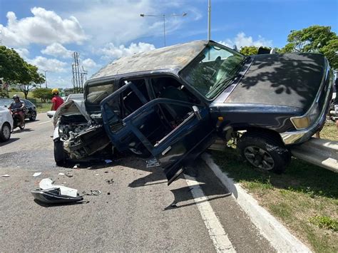
[[[283,172],[290,145],[322,128],[332,84],[318,53],[243,56],[193,41],[120,58],[86,81],[84,113],[65,105],[54,117],[55,160],[112,143],[155,157],[170,184],[218,137],[236,138],[260,170]]]

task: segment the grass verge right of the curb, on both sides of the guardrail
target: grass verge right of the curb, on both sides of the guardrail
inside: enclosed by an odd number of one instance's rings
[[[338,140],[334,123],[321,138]],[[212,151],[217,165],[240,182],[314,252],[338,252],[338,175],[297,158],[282,175],[258,172],[233,148]]]

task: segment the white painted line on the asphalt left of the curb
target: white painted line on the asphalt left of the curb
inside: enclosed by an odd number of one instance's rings
[[[236,252],[195,177],[184,175],[217,252]]]

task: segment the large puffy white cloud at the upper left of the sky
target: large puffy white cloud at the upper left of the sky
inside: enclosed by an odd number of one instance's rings
[[[31,9],[34,16],[16,19],[14,12],[6,15],[7,26],[0,24],[2,41],[7,46],[24,46],[29,43],[48,45],[59,43],[81,43],[86,35],[74,16],[62,19],[54,11],[34,7]]]

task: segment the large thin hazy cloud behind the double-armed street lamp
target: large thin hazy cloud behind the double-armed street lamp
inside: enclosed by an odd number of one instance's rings
[[[190,9],[194,11],[190,13]],[[179,29],[191,19],[200,19],[198,10],[185,4],[183,1],[173,0],[170,4],[155,0],[124,0],[124,1],[84,1],[83,8],[72,12],[86,28],[86,31],[95,38],[93,42],[105,45],[113,42],[116,45],[135,41],[143,36],[163,36],[162,16],[145,16],[140,14],[183,13],[188,16],[168,16],[165,29],[168,35]]]

